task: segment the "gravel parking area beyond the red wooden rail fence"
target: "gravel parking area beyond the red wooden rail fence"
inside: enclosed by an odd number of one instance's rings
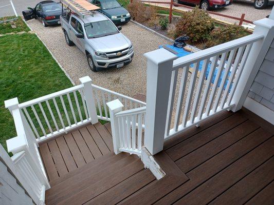
[[[170,2],[170,0],[156,0],[159,2]],[[159,6],[164,6],[164,7],[169,7],[169,5],[167,4],[155,4],[155,5],[159,5]],[[217,13],[222,13],[225,15],[230,15],[230,16],[234,16],[234,17],[241,17],[242,13],[245,13],[245,19],[247,20],[251,20],[252,22],[254,20],[259,20],[261,18],[265,18],[265,16],[269,15],[271,12],[273,6],[268,5],[267,8],[259,10],[259,9],[255,9],[253,6],[253,3],[247,3],[247,2],[241,2],[241,1],[233,1],[233,4],[228,6],[228,7],[224,7],[221,9],[215,9],[212,10],[214,12]],[[173,6],[173,8],[175,9],[180,9],[183,11],[188,11],[190,9],[184,8],[184,7],[175,7]],[[239,20],[234,20],[231,18],[226,18],[226,17],[222,17],[222,16],[218,16],[218,15],[212,15],[210,14],[213,18],[217,18],[220,20],[224,20],[226,22],[229,23],[237,23],[239,24]]]

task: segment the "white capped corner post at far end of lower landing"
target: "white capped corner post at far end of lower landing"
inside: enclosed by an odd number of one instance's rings
[[[89,76],[79,78],[81,84],[84,86],[84,98],[86,102],[88,116],[92,124],[98,122],[97,110],[93,96],[92,79]]]

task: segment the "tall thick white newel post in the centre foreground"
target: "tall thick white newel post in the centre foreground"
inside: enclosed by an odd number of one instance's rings
[[[154,155],[163,149],[173,60],[177,56],[163,48],[144,56],[148,60],[144,145]]]

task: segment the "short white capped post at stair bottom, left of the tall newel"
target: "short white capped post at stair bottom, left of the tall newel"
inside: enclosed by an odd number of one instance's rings
[[[115,117],[115,114],[123,110],[123,104],[119,99],[110,101],[106,103],[109,108],[109,115],[111,117],[111,127],[112,127],[112,140],[113,140],[113,149],[115,154],[119,154],[120,148],[120,134],[119,134],[119,123],[118,118]]]

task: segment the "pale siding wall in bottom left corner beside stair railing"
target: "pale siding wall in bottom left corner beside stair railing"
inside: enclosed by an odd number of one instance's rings
[[[32,205],[31,198],[17,184],[16,179],[0,161],[0,204],[1,205]]]

